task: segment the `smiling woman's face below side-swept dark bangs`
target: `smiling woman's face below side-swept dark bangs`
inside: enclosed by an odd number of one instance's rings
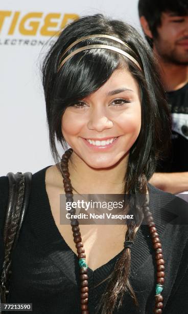
[[[66,108],[62,116],[64,139],[92,168],[128,160],[140,126],[139,88],[126,69],[115,70],[102,87]]]

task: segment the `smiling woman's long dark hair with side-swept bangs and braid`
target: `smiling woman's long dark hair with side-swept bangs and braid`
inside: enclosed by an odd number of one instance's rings
[[[115,36],[127,43],[130,48],[100,37],[84,40],[70,49],[68,54],[90,44],[112,45],[132,55],[142,70],[119,53],[106,49],[91,49],[70,57],[58,71],[65,49],[78,38],[91,34]],[[171,132],[169,111],[159,74],[150,47],[140,34],[130,25],[111,20],[101,14],[78,19],[61,32],[57,42],[46,55],[42,68],[43,88],[50,145],[54,160],[58,163],[56,139],[64,149],[67,148],[61,131],[61,119],[65,109],[98,90],[115,69],[125,66],[138,82],[142,98],[142,126],[136,142],[130,149],[127,172],[125,169],[125,193],[138,195],[147,192],[147,181],[154,173],[157,161],[168,149]],[[131,223],[127,221],[125,240],[134,241],[135,228],[142,222],[143,212],[142,207],[134,201],[130,208],[134,214],[134,221]],[[131,294],[135,303],[137,302],[129,282],[130,259],[130,249],[127,248],[111,273],[107,289],[101,299],[103,301],[100,313],[111,314],[115,306],[120,307],[126,291]]]

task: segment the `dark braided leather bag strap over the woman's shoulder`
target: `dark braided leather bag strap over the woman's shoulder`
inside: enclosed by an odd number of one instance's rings
[[[8,285],[11,273],[12,252],[16,246],[21,225],[29,205],[32,181],[31,172],[24,174],[21,172],[17,172],[16,174],[9,172],[7,176],[9,178],[9,198],[3,234],[5,259],[1,274],[0,304],[6,303],[6,298],[9,293]]]

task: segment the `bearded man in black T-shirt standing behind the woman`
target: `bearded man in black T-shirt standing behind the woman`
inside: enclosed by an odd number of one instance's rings
[[[172,114],[171,158],[150,183],[171,193],[188,191],[188,0],[139,0],[138,11]]]

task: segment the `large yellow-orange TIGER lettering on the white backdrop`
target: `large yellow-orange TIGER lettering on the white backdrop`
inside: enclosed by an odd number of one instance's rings
[[[9,22],[6,35],[13,35],[17,29],[21,35],[42,36],[58,35],[58,31],[67,23],[79,18],[75,13],[48,13],[29,12],[21,16],[20,11],[0,11],[0,33],[4,31],[7,20]]]

